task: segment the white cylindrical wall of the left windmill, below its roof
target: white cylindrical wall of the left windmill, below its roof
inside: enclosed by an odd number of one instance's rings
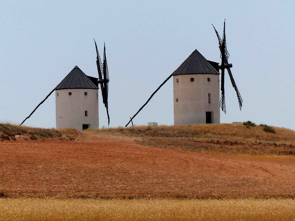
[[[72,95],[68,95],[69,92],[72,92]],[[87,92],[87,95],[84,95],[84,92]],[[55,110],[56,129],[73,127],[82,130],[82,124],[90,124],[92,128],[99,128],[98,90],[56,90]],[[85,110],[88,111],[87,117]]]

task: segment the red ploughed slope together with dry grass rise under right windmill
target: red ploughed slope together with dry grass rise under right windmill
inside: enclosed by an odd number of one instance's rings
[[[295,132],[219,124],[103,128],[0,141],[11,197],[294,197]],[[65,136],[63,132],[62,136]]]

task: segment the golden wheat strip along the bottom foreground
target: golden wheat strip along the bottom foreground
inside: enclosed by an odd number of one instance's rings
[[[0,220],[295,220],[293,199],[0,199]]]

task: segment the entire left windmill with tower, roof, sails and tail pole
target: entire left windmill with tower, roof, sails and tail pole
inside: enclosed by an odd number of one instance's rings
[[[109,71],[106,61],[106,47],[104,45],[103,63],[101,63],[96,42],[95,47],[99,78],[88,76],[78,66],[75,66],[73,70],[45,97],[44,100],[37,105],[32,113],[30,113],[30,115],[25,118],[20,125],[30,118],[37,108],[55,91],[57,128],[74,127],[79,130],[84,130],[84,128],[88,128],[90,125],[93,128],[98,128],[98,100],[86,99],[86,96],[89,98],[97,96],[97,91],[95,90],[99,89],[98,84],[101,86],[103,103],[106,107],[106,113],[108,116],[108,124],[110,123],[108,109]],[[79,94],[81,95],[80,97]],[[85,99],[81,99],[81,97]],[[69,114],[69,110],[71,114]],[[88,113],[88,110],[90,113]]]

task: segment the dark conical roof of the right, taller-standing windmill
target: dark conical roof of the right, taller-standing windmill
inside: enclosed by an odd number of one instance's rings
[[[185,74],[214,74],[219,72],[204,58],[198,50],[193,53],[172,73],[172,75]]]

